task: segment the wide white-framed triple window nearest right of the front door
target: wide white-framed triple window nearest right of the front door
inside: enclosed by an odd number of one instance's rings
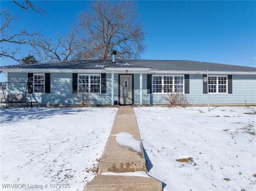
[[[153,93],[184,93],[184,76],[152,75]]]

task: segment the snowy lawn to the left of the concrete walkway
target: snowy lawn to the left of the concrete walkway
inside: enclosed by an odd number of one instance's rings
[[[0,109],[0,190],[82,191],[95,176],[117,109]]]

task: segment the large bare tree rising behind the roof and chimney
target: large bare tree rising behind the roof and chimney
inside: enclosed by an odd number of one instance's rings
[[[79,58],[109,58],[112,49],[117,57],[139,59],[144,52],[142,25],[132,1],[93,1],[80,16],[80,32],[85,49]]]

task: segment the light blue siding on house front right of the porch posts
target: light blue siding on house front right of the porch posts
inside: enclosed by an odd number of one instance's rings
[[[202,74],[190,74],[190,93],[186,98],[190,104],[207,104],[207,94],[203,94]],[[153,104],[165,104],[164,94],[152,94]],[[256,104],[256,75],[232,75],[232,94],[210,93],[210,104]],[[150,100],[147,96],[147,103]]]

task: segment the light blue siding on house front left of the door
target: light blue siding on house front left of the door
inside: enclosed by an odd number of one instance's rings
[[[28,81],[28,73],[8,73],[8,82]],[[111,73],[106,74],[106,94],[90,93],[91,104],[111,104]],[[8,93],[23,93],[18,84],[8,84]],[[118,100],[118,74],[114,75],[114,100]],[[32,93],[32,101],[42,105],[72,105],[80,104],[72,93],[72,73],[51,73],[50,93]]]

